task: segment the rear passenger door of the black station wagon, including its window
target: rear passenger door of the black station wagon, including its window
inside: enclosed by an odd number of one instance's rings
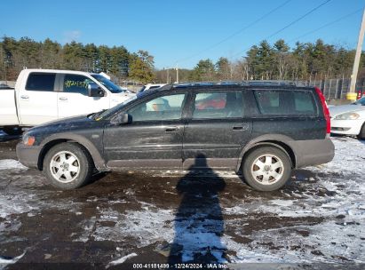
[[[183,140],[183,168],[233,169],[249,141],[251,120],[244,118],[245,92],[195,91]]]

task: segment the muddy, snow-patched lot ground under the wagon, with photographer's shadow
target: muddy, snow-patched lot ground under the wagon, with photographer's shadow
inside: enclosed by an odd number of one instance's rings
[[[0,140],[0,269],[67,262],[364,269],[365,141],[333,138],[333,162],[294,171],[281,190],[260,193],[231,172],[176,171],[100,174],[57,191],[17,162],[19,139],[0,133]]]

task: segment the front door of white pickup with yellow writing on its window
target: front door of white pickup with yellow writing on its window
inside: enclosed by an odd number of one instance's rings
[[[104,97],[89,97],[88,85],[95,83],[85,75],[61,74],[58,97],[59,118],[86,115],[109,108],[109,93]]]

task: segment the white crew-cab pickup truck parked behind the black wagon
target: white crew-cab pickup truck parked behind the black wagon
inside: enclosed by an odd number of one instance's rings
[[[35,126],[60,118],[85,115],[130,99],[105,76],[82,71],[24,69],[15,89],[0,90],[0,128]]]

